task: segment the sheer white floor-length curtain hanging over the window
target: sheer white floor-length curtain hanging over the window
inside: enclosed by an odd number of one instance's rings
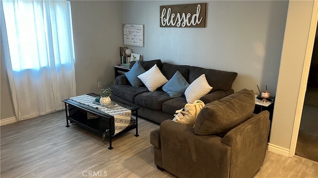
[[[18,120],[62,110],[76,96],[70,2],[2,0],[1,43]]]

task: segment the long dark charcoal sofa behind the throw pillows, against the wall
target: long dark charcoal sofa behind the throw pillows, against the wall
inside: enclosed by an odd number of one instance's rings
[[[131,62],[130,66],[132,67],[134,63],[135,61]],[[146,71],[157,64],[167,80],[178,70],[189,84],[200,75],[205,74],[207,82],[213,87],[207,95],[200,99],[205,104],[234,93],[232,83],[238,75],[236,72],[162,63],[160,59],[140,61],[140,63]],[[125,75],[117,76],[115,84],[111,85],[111,89],[112,100],[139,105],[138,116],[157,123],[161,123],[166,119],[173,119],[175,111],[180,110],[187,103],[185,96],[171,98],[161,87],[152,92],[146,86],[133,87]]]

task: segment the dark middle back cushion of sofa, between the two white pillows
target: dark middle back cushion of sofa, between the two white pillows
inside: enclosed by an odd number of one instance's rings
[[[176,71],[179,71],[181,75],[188,81],[189,78],[189,65],[174,65],[170,63],[162,63],[161,72],[168,80],[174,75]]]

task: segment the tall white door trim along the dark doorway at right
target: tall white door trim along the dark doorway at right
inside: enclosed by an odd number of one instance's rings
[[[311,24],[309,28],[309,35],[308,35],[305,60],[303,65],[302,78],[301,78],[300,89],[298,93],[298,101],[296,106],[294,126],[293,126],[292,138],[291,138],[291,143],[289,148],[290,149],[289,157],[295,156],[295,152],[296,152],[300,122],[302,119],[305,95],[307,90],[310,64],[311,64],[311,60],[313,56],[313,49],[314,49],[314,43],[315,43],[315,37],[316,37],[317,21],[318,21],[318,0],[314,0],[313,3],[314,5],[313,5],[313,12],[312,12],[312,19],[311,19]]]

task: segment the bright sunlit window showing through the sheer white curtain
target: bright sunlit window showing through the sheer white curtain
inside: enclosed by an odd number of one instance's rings
[[[67,8],[28,0],[2,4],[13,71],[38,70],[52,65],[52,60],[56,66],[75,60],[70,1]],[[52,13],[49,8],[56,9]]]

